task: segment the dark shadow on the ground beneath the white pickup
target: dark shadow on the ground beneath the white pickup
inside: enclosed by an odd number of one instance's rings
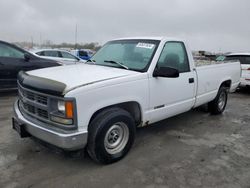
[[[203,116],[204,118],[201,118],[201,116]],[[131,156],[137,155],[136,153],[133,154],[133,152],[136,152],[136,150],[140,150],[141,146],[144,147],[145,144],[149,144],[153,139],[154,141],[150,143],[150,146],[148,148],[148,152],[150,152],[151,147],[154,145],[154,142],[157,142],[157,137],[168,138],[168,132],[170,131],[183,132],[196,128],[206,121],[207,116],[210,115],[209,113],[205,113],[204,109],[193,109],[189,112],[162,120],[149,126],[137,128],[135,143],[132,147],[132,151],[130,151],[129,153],[132,153]],[[194,121],[195,123],[192,123]],[[178,140],[180,138],[181,136],[176,135],[174,139]],[[169,137],[169,139],[171,141],[173,137]],[[61,160],[65,160],[64,162],[66,163],[73,162],[85,168],[86,166],[99,166],[99,164],[93,162],[93,160],[88,156],[86,150],[79,150],[73,152],[64,151],[60,148],[44,143],[41,140],[35,138],[33,138],[33,140],[36,142],[35,144],[38,144],[39,148],[43,153],[50,153],[50,155],[56,154],[59,158],[61,158]],[[125,160],[127,157],[128,156],[125,157]]]

